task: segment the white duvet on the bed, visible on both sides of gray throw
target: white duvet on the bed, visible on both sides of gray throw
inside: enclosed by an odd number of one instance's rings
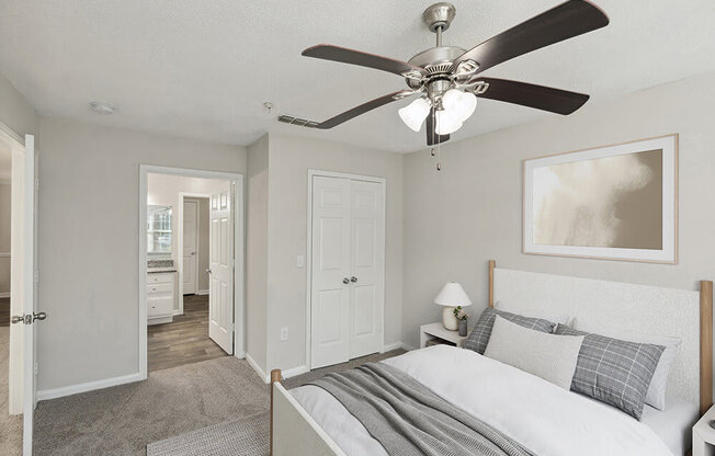
[[[384,361],[536,455],[672,456],[661,438],[625,413],[469,350],[434,345]],[[291,391],[349,456],[386,455],[330,394]]]

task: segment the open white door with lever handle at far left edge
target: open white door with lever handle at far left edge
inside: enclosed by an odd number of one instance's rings
[[[35,138],[25,136],[24,151],[13,152],[13,207],[12,231],[12,296],[14,306],[11,317],[10,351],[21,354],[18,384],[22,388],[23,455],[32,455],[33,411],[35,408],[35,332],[34,322],[44,320],[44,314],[35,314]],[[16,253],[16,254],[15,254]],[[14,363],[11,363],[11,366]]]

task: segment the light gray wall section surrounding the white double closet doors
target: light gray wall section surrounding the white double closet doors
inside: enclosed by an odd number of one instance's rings
[[[268,365],[306,363],[306,269],[296,256],[307,249],[308,169],[387,180],[385,233],[385,342],[400,341],[402,319],[402,157],[337,142],[271,135],[269,141]],[[280,329],[288,340],[280,341]]]

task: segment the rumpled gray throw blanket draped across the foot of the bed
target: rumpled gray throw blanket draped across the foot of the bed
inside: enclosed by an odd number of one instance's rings
[[[384,363],[329,374],[310,385],[334,396],[390,456],[533,456]]]

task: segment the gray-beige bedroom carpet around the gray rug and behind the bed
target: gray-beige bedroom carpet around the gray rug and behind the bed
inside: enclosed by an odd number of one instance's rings
[[[395,350],[285,380],[295,388],[330,372],[404,353]],[[269,387],[226,356],[149,374],[146,381],[39,402],[35,455],[144,456],[149,443],[269,410]]]

